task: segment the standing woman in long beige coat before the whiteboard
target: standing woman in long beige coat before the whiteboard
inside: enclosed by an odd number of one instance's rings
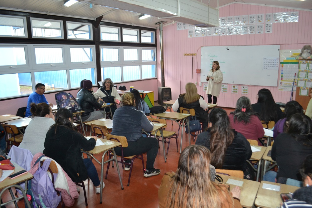
[[[206,80],[208,81],[206,94],[208,95],[208,103],[212,102],[213,104],[217,103],[217,97],[220,95],[223,74],[220,71],[219,62],[212,62],[212,69],[209,71]]]

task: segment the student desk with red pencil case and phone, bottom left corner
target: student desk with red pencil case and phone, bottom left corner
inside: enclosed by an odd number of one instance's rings
[[[12,161],[12,160],[11,160],[11,162],[12,162],[12,164],[15,166],[15,169],[14,169],[14,172],[13,172],[13,173],[16,173],[16,172],[18,172],[18,171],[24,170],[21,166],[17,165],[16,162],[14,162],[14,161]],[[13,174],[13,173],[12,173],[12,174]],[[9,192],[10,192],[10,195],[12,196],[12,201],[14,201],[15,207],[18,207],[16,201],[19,200],[19,199],[22,199],[22,198],[24,198],[24,197],[23,197],[23,196],[19,196],[19,197],[15,198],[15,197],[14,197],[14,194],[13,194],[13,192],[12,192],[12,190],[11,190],[11,187],[14,187],[15,184],[18,184],[18,183],[21,183],[21,182],[24,182],[24,181],[25,181],[25,189],[24,189],[24,190],[26,191],[26,190],[27,190],[27,183],[28,183],[28,180],[32,179],[33,177],[34,177],[34,176],[33,176],[32,174],[30,174],[29,172],[27,172],[27,173],[25,173],[25,174],[23,174],[23,175],[21,175],[21,176],[18,176],[18,177],[14,178],[14,179],[6,178],[6,179],[4,179],[2,182],[0,182],[0,190],[2,190],[2,189],[4,189],[4,188],[8,189]],[[6,190],[6,189],[5,189],[5,190]],[[1,196],[2,196],[2,194],[3,194],[3,192],[4,192],[5,190],[2,190],[2,191],[0,192],[0,198],[1,198]],[[10,202],[12,202],[12,201],[5,202],[5,203],[3,203],[3,204],[1,204],[1,205],[4,205],[4,204],[6,204],[6,203],[10,203]]]

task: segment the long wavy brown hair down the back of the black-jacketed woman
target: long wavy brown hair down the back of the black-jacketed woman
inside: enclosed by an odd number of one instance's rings
[[[210,128],[211,165],[222,168],[227,147],[232,144],[234,133],[230,128],[227,112],[222,108],[213,108],[208,116]]]

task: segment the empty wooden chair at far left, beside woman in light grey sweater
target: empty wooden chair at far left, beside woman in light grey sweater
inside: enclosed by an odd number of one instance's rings
[[[5,151],[5,154],[7,154],[7,151],[9,149],[9,146],[16,145],[18,146],[22,141],[23,141],[23,136],[22,134],[16,135],[20,133],[15,125],[9,125],[9,124],[2,124],[4,126],[4,131],[5,131],[5,141],[7,142],[7,148]],[[9,134],[12,135],[12,137],[9,138]]]

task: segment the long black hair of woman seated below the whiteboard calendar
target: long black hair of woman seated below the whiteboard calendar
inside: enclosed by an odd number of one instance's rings
[[[278,119],[278,115],[276,112],[275,101],[272,96],[272,93],[268,89],[261,89],[258,92],[258,102],[264,103],[260,111],[260,118],[265,123],[269,123],[269,121],[276,121]]]

